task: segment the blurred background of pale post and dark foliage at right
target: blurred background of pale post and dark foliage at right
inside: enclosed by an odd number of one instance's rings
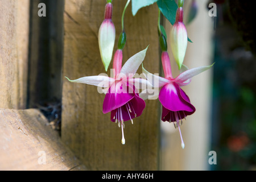
[[[184,150],[180,147],[179,131],[173,125],[170,128],[169,123],[162,123],[160,167],[163,170],[255,170],[253,5],[250,1],[193,2],[197,13],[186,24],[193,43],[188,43],[184,64],[189,68],[215,64],[183,88],[197,109],[181,126]],[[209,16],[210,3],[216,5],[217,16]],[[191,7],[192,1],[185,1],[185,20]],[[171,28],[170,23],[165,24]],[[209,164],[213,156],[210,151],[216,152],[216,164]]]

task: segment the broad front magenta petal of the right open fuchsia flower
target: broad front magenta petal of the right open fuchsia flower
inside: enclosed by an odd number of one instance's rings
[[[159,101],[171,111],[195,111],[195,107],[190,104],[187,95],[175,82],[163,86],[159,93]]]

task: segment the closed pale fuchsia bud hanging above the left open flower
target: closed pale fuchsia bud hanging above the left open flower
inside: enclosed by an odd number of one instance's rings
[[[98,32],[98,44],[100,47],[101,60],[106,71],[108,71],[109,64],[112,60],[115,44],[115,26],[112,22],[112,11],[113,5],[111,2],[108,2],[105,7],[105,19]]]

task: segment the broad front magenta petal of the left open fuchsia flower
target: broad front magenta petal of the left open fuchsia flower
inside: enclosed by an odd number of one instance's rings
[[[112,84],[108,90],[108,93],[106,93],[103,102],[103,113],[109,113],[110,111],[115,110],[132,100],[134,98],[134,93],[130,92],[130,90],[132,89],[129,86],[126,86],[122,81]]]

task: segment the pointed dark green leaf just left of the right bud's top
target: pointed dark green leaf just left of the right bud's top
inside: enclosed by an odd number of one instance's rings
[[[162,14],[168,19],[168,21],[174,25],[176,20],[177,4],[175,0],[158,0],[158,7]],[[162,31],[162,28],[161,28]],[[166,36],[166,35],[164,35]],[[189,38],[188,41],[193,43]]]

